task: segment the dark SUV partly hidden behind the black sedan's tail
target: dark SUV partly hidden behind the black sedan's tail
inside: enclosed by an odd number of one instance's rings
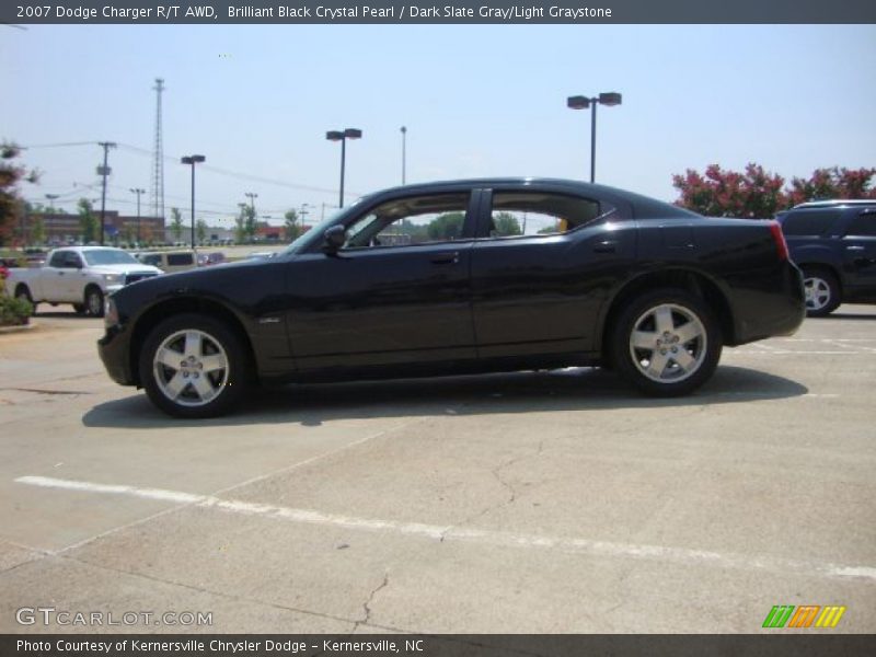
[[[810,318],[843,302],[876,303],[876,199],[804,203],[776,219],[803,269]]]

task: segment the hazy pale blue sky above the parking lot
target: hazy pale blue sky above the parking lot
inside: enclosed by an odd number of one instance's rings
[[[785,178],[876,166],[876,25],[0,26],[0,139],[42,172],[28,200],[150,214],[155,78],[163,78],[168,216],[230,228],[238,204],[308,222],[346,194],[475,176],[589,180],[590,114],[569,95],[623,94],[597,115],[596,181],[675,200],[672,174],[762,164]],[[73,146],[55,146],[73,145]]]

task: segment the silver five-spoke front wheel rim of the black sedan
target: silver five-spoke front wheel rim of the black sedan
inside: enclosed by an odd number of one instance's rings
[[[229,360],[209,333],[177,331],[161,343],[152,360],[161,393],[182,406],[203,406],[228,384]]]

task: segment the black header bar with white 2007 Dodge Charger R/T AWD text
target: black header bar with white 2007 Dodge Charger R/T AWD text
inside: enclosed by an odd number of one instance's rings
[[[876,23],[873,0],[4,0],[27,24],[794,24]]]

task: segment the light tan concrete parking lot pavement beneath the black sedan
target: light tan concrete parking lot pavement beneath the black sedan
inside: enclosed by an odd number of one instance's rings
[[[874,307],[725,349],[685,399],[569,369],[205,422],[51,310],[0,335],[0,633],[754,633],[777,604],[876,632]]]

